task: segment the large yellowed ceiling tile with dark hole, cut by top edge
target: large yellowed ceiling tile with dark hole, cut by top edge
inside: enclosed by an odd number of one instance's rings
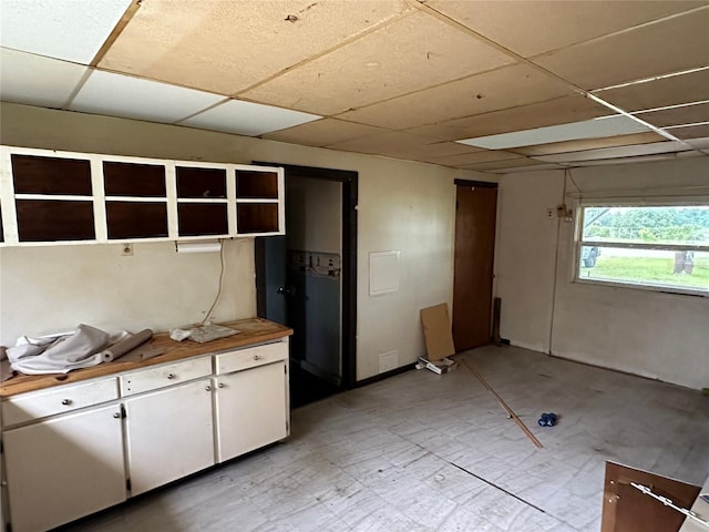
[[[408,9],[402,0],[150,0],[100,66],[233,95]]]

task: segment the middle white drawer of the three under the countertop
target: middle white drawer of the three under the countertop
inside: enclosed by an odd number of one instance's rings
[[[175,364],[153,366],[121,376],[121,395],[134,396],[212,374],[212,359],[199,357]]]

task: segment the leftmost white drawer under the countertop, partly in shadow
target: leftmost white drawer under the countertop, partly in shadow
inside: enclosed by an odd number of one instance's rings
[[[115,377],[12,396],[2,402],[2,424],[24,423],[119,398]]]

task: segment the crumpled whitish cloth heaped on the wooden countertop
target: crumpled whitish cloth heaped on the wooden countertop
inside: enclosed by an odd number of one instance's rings
[[[69,335],[18,340],[7,350],[11,368],[24,375],[66,374],[72,369],[96,366],[101,351],[111,344],[111,335],[85,324]]]

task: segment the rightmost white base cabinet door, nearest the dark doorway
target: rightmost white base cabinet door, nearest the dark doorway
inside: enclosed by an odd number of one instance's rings
[[[276,362],[216,379],[219,462],[288,436],[286,370]]]

